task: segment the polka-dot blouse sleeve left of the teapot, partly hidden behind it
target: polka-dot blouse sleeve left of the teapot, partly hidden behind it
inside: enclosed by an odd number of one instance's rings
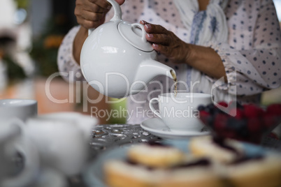
[[[81,68],[73,57],[73,40],[78,33],[80,26],[73,27],[66,34],[57,54],[57,66],[59,73],[67,82],[84,80]]]

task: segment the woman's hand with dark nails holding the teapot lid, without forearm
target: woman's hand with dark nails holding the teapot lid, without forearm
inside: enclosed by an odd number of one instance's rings
[[[141,24],[145,26],[147,32],[145,37],[147,41],[152,43],[154,50],[164,54],[173,63],[186,63],[188,61],[190,50],[187,43],[161,25],[150,24],[143,20]]]

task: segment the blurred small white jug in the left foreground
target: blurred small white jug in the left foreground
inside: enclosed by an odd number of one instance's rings
[[[43,167],[71,176],[87,163],[89,137],[96,123],[96,118],[75,112],[45,114],[27,120],[27,134],[38,148]]]

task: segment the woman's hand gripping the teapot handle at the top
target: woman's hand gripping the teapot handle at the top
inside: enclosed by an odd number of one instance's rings
[[[124,3],[124,0],[115,1],[120,5]],[[91,29],[103,24],[110,8],[111,5],[106,0],[76,0],[74,14],[78,24],[85,29]]]

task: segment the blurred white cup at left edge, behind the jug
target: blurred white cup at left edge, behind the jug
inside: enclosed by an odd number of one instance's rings
[[[26,121],[37,115],[37,101],[31,99],[1,99],[0,117],[17,118]]]

